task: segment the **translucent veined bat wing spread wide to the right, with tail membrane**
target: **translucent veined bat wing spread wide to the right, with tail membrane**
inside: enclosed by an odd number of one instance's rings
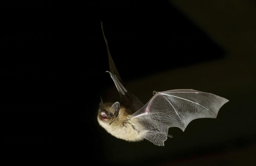
[[[154,96],[132,114],[147,130],[145,139],[164,146],[169,127],[183,131],[197,118],[216,118],[218,110],[227,103],[226,98],[197,90],[182,89],[154,92]]]

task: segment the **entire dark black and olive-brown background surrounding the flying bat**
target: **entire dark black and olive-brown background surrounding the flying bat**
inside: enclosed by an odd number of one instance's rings
[[[254,1],[1,1],[0,146],[9,161],[254,165]],[[254,15],[255,16],[255,15]],[[96,121],[117,92],[111,55],[144,103],[152,91],[196,89],[230,101],[164,147],[128,143]],[[118,99],[118,98],[117,98]]]

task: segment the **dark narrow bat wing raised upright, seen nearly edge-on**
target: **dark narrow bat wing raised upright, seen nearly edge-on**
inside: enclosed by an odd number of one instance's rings
[[[116,85],[116,89],[119,92],[120,103],[135,112],[139,110],[141,107],[143,107],[144,104],[134,94],[129,92],[125,87],[125,83],[122,81],[121,77],[119,76],[119,73],[116,69],[116,65],[111,57],[111,54],[108,48],[108,40],[105,37],[102,22],[101,22],[101,26],[102,26],[102,34],[103,34],[103,37],[107,46],[107,51],[108,51],[108,62],[109,62],[110,71],[107,71],[107,72],[110,74],[111,78],[113,79],[113,82]]]

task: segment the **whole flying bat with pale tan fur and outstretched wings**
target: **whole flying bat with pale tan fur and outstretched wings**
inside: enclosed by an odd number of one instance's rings
[[[183,132],[197,118],[216,118],[219,109],[228,102],[226,98],[192,89],[153,92],[152,98],[143,104],[127,90],[111,57],[108,41],[101,22],[102,34],[107,46],[110,74],[120,101],[99,104],[97,121],[116,138],[129,142],[146,139],[157,146],[172,135],[170,127],[179,127]]]

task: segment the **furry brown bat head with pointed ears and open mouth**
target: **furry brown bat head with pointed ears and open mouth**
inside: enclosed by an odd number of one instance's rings
[[[114,104],[105,103],[101,101],[99,104],[99,111],[98,111],[98,120],[108,123],[113,121],[119,114],[120,104],[119,102],[115,102]]]

